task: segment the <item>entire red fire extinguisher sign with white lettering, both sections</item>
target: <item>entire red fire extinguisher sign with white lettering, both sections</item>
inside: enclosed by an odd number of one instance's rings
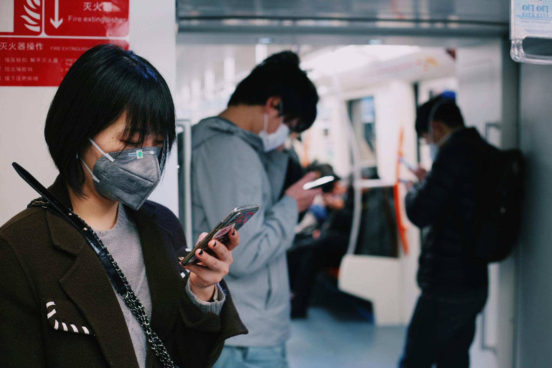
[[[0,86],[59,86],[84,51],[128,36],[129,0],[1,0]]]

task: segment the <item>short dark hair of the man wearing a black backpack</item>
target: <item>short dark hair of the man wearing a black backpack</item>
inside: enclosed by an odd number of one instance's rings
[[[418,136],[428,132],[429,120],[443,123],[449,128],[464,126],[460,109],[454,102],[454,98],[447,93],[439,94],[418,106],[416,110],[416,133]]]

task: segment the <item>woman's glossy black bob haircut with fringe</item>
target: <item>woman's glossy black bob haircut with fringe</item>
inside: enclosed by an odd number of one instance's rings
[[[77,153],[126,114],[123,140],[163,137],[161,171],[176,137],[171,92],[160,72],[144,57],[115,44],[84,52],[61,81],[46,116],[44,138],[60,175],[83,196],[84,172]]]

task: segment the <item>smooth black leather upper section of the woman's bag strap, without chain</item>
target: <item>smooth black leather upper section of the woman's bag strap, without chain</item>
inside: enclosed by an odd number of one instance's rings
[[[115,291],[119,293],[119,295],[124,296],[127,292],[125,283],[121,280],[119,273],[109,259],[107,249],[100,243],[97,235],[95,235],[87,223],[78,217],[75,212],[65,206],[65,204],[63,204],[59,199],[57,199],[54,194],[47,190],[46,187],[36,180],[33,175],[23,169],[21,165],[17,164],[17,162],[13,162],[12,166],[15,171],[17,171],[17,174],[23,178],[23,180],[25,180],[36,192],[38,192],[42,198],[46,199],[48,202],[47,208],[62,219],[66,220],[66,222],[70,223],[73,228],[77,229],[77,231],[81,233],[84,239],[86,239],[88,245],[90,245],[90,248],[92,248],[94,253],[98,256],[100,262],[102,262],[102,266],[109,277],[109,281],[111,281],[113,287],[115,288]]]

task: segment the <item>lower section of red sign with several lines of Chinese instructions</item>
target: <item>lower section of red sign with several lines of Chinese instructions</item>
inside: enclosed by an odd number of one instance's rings
[[[102,43],[129,49],[122,40],[0,37],[0,86],[53,86],[84,51]]]

